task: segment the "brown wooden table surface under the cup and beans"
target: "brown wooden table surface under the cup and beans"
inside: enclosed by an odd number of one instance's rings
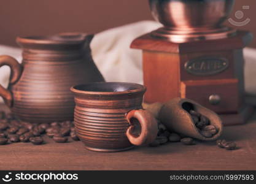
[[[168,143],[97,153],[86,150],[80,141],[57,144],[45,136],[44,145],[1,145],[0,170],[256,170],[256,113],[246,125],[225,127],[222,138],[240,148],[228,151],[215,142]]]

